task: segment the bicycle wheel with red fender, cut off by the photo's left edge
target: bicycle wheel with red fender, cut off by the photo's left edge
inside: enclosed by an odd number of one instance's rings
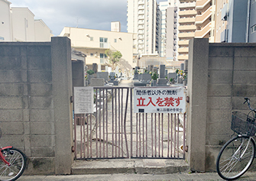
[[[3,149],[2,154],[11,165],[8,166],[3,161],[0,161],[0,180],[12,181],[18,179],[25,170],[25,155],[21,150],[14,147]]]

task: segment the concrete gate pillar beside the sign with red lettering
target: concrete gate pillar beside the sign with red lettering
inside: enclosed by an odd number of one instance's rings
[[[187,110],[186,159],[191,170],[206,170],[206,108],[209,63],[209,40],[192,39],[189,45],[187,95],[190,103]],[[193,92],[192,92],[193,90]]]

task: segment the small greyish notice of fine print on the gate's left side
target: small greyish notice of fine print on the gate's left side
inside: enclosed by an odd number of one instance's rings
[[[74,87],[74,113],[93,113],[93,87]]]

